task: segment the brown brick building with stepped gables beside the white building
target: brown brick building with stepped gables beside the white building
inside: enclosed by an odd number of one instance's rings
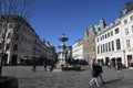
[[[95,61],[95,35],[98,28],[96,25],[91,24],[89,29],[84,30],[84,38],[83,38],[83,57],[84,59],[91,64],[91,62]]]

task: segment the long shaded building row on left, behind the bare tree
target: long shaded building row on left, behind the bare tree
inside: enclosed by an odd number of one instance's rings
[[[1,48],[3,33],[6,33],[6,44],[10,44],[10,47],[7,50],[6,59],[3,61],[4,64],[17,65],[21,64],[23,59],[40,58],[40,56],[43,55],[42,52],[47,51],[45,48],[42,50],[44,44],[39,35],[20,15],[0,16]],[[45,53],[51,52],[47,51]]]

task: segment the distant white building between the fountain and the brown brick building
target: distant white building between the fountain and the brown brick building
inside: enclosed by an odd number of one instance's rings
[[[72,45],[72,58],[83,59],[83,38],[75,41]]]

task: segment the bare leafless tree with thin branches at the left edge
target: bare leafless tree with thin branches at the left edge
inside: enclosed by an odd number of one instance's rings
[[[0,0],[0,77],[6,53],[9,48],[11,48],[11,44],[18,33],[17,29],[8,30],[10,19],[11,16],[19,15],[25,21],[29,21],[32,15],[33,6],[34,0]],[[10,40],[8,38],[9,36]]]

